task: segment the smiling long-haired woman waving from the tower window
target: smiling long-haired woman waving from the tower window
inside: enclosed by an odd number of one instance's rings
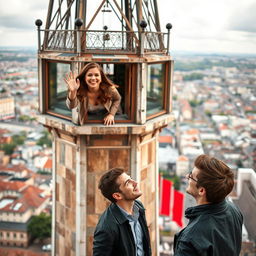
[[[88,63],[78,76],[70,72],[64,80],[68,88],[67,107],[76,108],[80,125],[86,123],[88,115],[103,117],[105,125],[115,123],[121,96],[118,86],[107,78],[99,64]]]

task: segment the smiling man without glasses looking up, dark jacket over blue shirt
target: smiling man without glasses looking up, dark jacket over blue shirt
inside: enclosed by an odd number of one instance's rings
[[[136,199],[138,183],[122,168],[113,168],[99,182],[112,204],[102,214],[94,233],[93,256],[149,256],[150,238],[145,209]]]

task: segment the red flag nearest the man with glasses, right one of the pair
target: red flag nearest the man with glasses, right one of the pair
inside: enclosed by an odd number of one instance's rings
[[[183,227],[184,197],[182,192],[174,190],[172,220],[181,228]]]

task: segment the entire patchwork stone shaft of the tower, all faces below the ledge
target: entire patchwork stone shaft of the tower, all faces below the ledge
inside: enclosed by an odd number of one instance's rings
[[[158,174],[156,170],[157,145],[154,136],[149,134],[142,139],[139,135],[83,135],[74,140],[75,142],[83,141],[83,144],[77,143],[77,145],[56,140],[56,256],[92,255],[95,226],[109,205],[108,200],[101,195],[98,183],[102,174],[113,167],[123,167],[133,178],[139,179],[143,192],[140,200],[146,208],[152,252],[156,255]],[[79,161],[80,167],[77,166],[76,161]],[[80,177],[86,177],[84,178],[85,186],[81,182],[80,187],[76,184],[77,168],[79,168]],[[76,192],[80,195],[78,196]],[[85,214],[77,215],[76,202],[78,200],[81,200],[80,205],[86,202]],[[86,246],[80,248],[80,253],[76,252],[76,240],[79,240],[77,236],[79,231],[76,229],[79,227],[80,231],[81,227],[85,229],[80,239],[83,240],[83,234],[86,236],[84,238]]]

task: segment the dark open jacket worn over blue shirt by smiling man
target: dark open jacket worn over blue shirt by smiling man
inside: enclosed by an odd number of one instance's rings
[[[139,222],[143,232],[145,256],[151,255],[149,232],[145,209],[141,202],[134,203],[139,208]],[[94,233],[93,256],[136,256],[135,242],[129,221],[118,206],[112,203],[102,214]]]

